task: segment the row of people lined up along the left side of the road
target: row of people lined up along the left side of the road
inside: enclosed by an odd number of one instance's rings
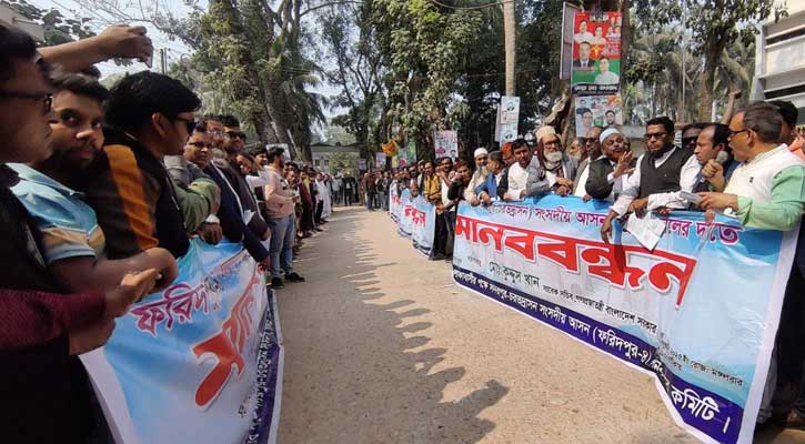
[[[172,284],[193,239],[242,244],[282,289],[304,281],[294,255],[328,223],[334,193],[323,172],[281,148],[245,150],[238,119],[197,115],[201,100],[175,79],[142,71],[107,89],[92,67],[151,51],[139,27],[37,48],[0,26],[8,442],[110,442],[77,356]]]

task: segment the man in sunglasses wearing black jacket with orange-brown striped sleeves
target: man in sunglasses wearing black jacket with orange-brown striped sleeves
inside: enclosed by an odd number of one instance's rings
[[[128,75],[110,91],[103,151],[81,186],[110,259],[155,246],[182,256],[188,233],[215,211],[220,190],[213,181],[198,179],[183,190],[162,164],[163,157],[182,153],[200,105],[179,81],[150,71]]]

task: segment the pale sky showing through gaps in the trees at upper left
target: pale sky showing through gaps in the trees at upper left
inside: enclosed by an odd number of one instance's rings
[[[28,0],[30,3],[43,8],[43,9],[50,9],[56,8],[58,9],[63,16],[66,17],[83,17],[83,18],[90,18],[92,19],[89,22],[89,26],[95,31],[101,32],[103,28],[105,28],[107,24],[115,23],[114,18],[111,17],[108,13],[104,13],[103,11],[99,11],[92,8],[87,7],[87,2],[83,4],[77,0]],[[121,9],[125,10],[129,14],[137,16],[137,9],[133,9],[134,4],[137,4],[137,1],[132,0],[100,0],[109,4],[118,4]],[[171,11],[175,17],[183,17],[191,12],[191,8],[185,6],[182,0],[159,0],[162,7],[168,8],[169,11]],[[144,2],[150,3],[150,2]],[[127,7],[131,6],[131,7]],[[199,0],[199,6],[201,8],[207,8],[207,0]],[[171,64],[171,62],[179,61],[182,57],[188,57],[192,53],[192,50],[185,46],[180,40],[171,40],[171,38],[165,34],[164,32],[159,31],[157,28],[154,28],[151,23],[148,22],[129,22],[127,24],[140,24],[148,29],[148,36],[151,38],[151,41],[153,42],[154,47],[154,54],[153,54],[153,63],[152,63],[152,70],[159,71],[160,70],[160,61],[159,61],[159,54],[160,49],[165,49],[165,57],[168,59],[168,65]],[[97,64],[98,69],[101,70],[101,74],[103,77],[107,75],[113,75],[113,74],[120,74],[125,72],[139,72],[142,70],[148,69],[148,67],[140,62],[134,61],[133,64],[129,67],[120,67],[117,65],[112,61],[102,62]],[[325,82],[322,83],[320,88],[313,89],[315,92],[322,93],[324,95],[331,97],[339,93],[339,89],[335,87],[332,87],[330,84],[326,84]],[[342,113],[343,110],[330,110],[324,109],[324,115],[328,119],[331,119],[340,113]],[[319,129],[321,130],[321,129]]]

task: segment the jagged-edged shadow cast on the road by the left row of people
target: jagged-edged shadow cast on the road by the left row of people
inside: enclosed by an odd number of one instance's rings
[[[490,380],[445,398],[465,370],[442,369],[447,350],[427,347],[432,323],[421,317],[430,311],[411,297],[430,289],[379,256],[359,211],[335,213],[329,232],[302,250],[308,282],[280,292],[286,347],[280,442],[479,442],[495,427],[480,413],[509,389]],[[303,261],[313,254],[320,261]]]

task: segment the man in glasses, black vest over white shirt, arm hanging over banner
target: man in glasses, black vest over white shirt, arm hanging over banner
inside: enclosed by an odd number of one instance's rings
[[[682,210],[688,205],[680,192],[693,190],[702,169],[693,149],[674,145],[674,122],[666,117],[646,122],[645,139],[647,151],[637,160],[637,167],[601,228],[604,242],[610,242],[615,218],[627,213],[643,216],[646,211]]]

